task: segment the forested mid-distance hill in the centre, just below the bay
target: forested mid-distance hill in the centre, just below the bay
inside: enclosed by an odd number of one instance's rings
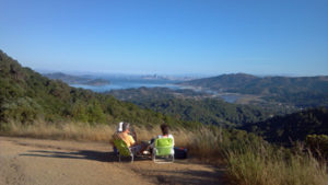
[[[209,94],[192,90],[171,90],[166,88],[140,88],[109,92],[119,100],[129,101],[177,119],[213,125],[242,125],[260,122],[272,112],[251,105],[226,103],[211,99]]]

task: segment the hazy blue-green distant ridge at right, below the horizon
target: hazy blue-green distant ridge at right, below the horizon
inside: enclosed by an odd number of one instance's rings
[[[328,105],[328,77],[255,77],[245,73],[223,74],[183,82],[216,92],[260,95],[266,101],[302,107]]]

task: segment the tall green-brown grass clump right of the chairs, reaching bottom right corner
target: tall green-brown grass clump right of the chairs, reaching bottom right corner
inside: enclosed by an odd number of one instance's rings
[[[326,162],[303,148],[278,148],[244,131],[218,128],[195,132],[192,141],[197,157],[225,160],[232,184],[328,185]]]

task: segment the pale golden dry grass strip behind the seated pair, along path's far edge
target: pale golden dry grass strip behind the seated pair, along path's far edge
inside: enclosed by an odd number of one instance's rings
[[[133,127],[138,134],[138,140],[150,140],[161,134],[160,127]],[[89,141],[110,141],[116,131],[116,125],[87,125],[82,123],[57,123],[47,124],[43,120],[36,120],[34,124],[24,125],[10,122],[1,129],[0,134],[4,136],[44,138],[44,139],[72,139]],[[190,143],[191,132],[185,129],[172,131],[174,136],[179,136],[176,146]]]

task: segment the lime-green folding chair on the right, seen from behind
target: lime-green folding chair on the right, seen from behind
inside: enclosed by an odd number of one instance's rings
[[[155,141],[155,147],[153,148],[153,161],[155,163],[172,163],[174,162],[174,149],[172,138],[159,138]],[[159,160],[157,158],[171,159],[171,161]]]

